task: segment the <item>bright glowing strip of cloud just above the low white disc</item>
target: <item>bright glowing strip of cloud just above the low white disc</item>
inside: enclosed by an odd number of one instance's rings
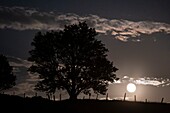
[[[156,87],[170,86],[169,78],[156,78],[156,77],[133,78],[129,76],[124,76],[123,78],[120,79],[118,83],[126,83],[126,82],[133,82],[139,85],[151,85]]]

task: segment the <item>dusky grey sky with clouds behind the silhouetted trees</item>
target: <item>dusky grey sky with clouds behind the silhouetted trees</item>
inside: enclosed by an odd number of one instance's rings
[[[37,78],[26,72],[26,59],[35,33],[78,21],[96,29],[119,69],[111,99],[126,92],[129,100],[170,102],[169,0],[0,0],[0,53],[10,57],[18,77],[12,91],[34,92]],[[126,90],[129,82],[137,86],[134,93]]]

